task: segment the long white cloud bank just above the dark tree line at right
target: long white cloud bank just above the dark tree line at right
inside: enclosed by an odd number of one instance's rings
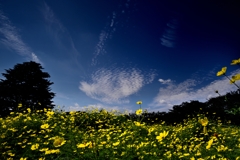
[[[240,73],[240,69],[232,72],[229,77]],[[240,85],[239,81],[236,82]],[[179,105],[182,102],[190,100],[198,100],[206,102],[212,97],[217,97],[216,90],[220,94],[226,94],[230,91],[235,91],[235,85],[230,84],[226,77],[219,77],[219,80],[211,82],[202,88],[197,88],[199,81],[188,79],[180,84],[168,83],[168,86],[160,88],[158,95],[154,98],[153,102],[149,105],[152,111],[168,111],[173,105]]]

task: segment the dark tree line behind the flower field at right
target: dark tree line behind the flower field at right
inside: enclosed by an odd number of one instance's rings
[[[235,109],[238,112],[232,113]],[[225,95],[214,97],[206,102],[192,100],[183,102],[180,105],[174,105],[169,112],[150,112],[143,113],[142,122],[147,124],[156,124],[165,121],[167,125],[176,125],[183,123],[184,119],[196,118],[198,114],[204,114],[211,120],[221,120],[223,125],[229,124],[240,126],[240,90],[226,93]],[[127,116],[129,119],[137,119],[135,113]]]

